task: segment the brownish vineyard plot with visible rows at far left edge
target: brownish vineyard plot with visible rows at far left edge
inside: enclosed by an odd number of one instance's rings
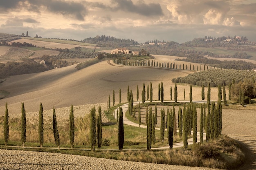
[[[11,47],[4,55],[0,56],[0,61],[17,61],[22,58],[27,58],[33,55],[35,52],[27,49],[22,49],[18,47]]]

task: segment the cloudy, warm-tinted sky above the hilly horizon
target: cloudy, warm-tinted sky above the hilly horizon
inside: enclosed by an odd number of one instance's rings
[[[84,40],[96,35],[186,42],[256,41],[256,0],[0,0],[0,32]]]

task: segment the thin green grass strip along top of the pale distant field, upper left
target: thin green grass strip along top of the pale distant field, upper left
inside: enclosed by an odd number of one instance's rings
[[[77,41],[70,41],[70,40],[57,40],[57,39],[49,39],[49,38],[22,37],[22,39],[45,41],[45,42],[55,42],[55,43],[60,43],[60,44],[81,45],[81,46],[96,46],[97,45],[97,44],[90,44],[90,43],[84,43],[84,42],[77,42]]]

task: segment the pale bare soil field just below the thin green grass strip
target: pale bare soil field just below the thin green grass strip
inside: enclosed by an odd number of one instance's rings
[[[75,48],[76,46],[81,46],[81,45],[72,45],[72,44],[61,44],[61,43],[56,43],[56,42],[46,42],[46,41],[36,41],[36,40],[29,40],[29,39],[19,39],[19,40],[14,40],[11,42],[20,42],[23,44],[23,42],[27,42],[27,43],[31,43],[34,44],[38,47],[45,47],[46,49],[72,49]],[[99,48],[99,47],[95,47],[95,46],[81,46],[81,47],[85,47],[85,48],[90,48],[90,49],[94,49],[94,48]]]

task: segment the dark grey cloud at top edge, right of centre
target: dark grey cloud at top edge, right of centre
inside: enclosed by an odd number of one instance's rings
[[[144,16],[163,15],[163,11],[160,4],[146,4],[145,2],[139,2],[137,4],[134,4],[131,0],[112,0],[112,3],[115,6],[114,10],[137,13],[139,15]]]

